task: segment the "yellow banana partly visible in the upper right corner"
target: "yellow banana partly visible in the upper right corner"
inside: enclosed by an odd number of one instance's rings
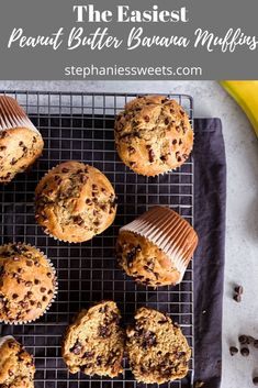
[[[220,84],[244,110],[258,136],[258,80]]]

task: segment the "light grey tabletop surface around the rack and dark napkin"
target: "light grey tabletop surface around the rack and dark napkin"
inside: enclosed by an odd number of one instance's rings
[[[0,89],[184,92],[194,98],[195,117],[222,119],[227,157],[222,388],[254,387],[258,350],[249,357],[228,352],[239,334],[258,337],[258,140],[236,103],[215,81],[0,81]],[[234,284],[244,286],[242,303],[232,299]]]

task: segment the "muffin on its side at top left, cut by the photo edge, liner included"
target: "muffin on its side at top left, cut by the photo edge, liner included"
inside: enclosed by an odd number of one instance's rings
[[[41,156],[44,142],[16,100],[0,96],[0,182],[11,181]]]

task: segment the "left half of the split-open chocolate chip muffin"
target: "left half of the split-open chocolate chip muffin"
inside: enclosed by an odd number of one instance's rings
[[[113,301],[103,301],[82,310],[67,329],[63,357],[75,374],[115,377],[123,372],[124,331],[120,311]]]

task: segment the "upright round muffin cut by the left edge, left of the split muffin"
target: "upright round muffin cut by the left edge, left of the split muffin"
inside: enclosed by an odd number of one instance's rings
[[[56,293],[48,259],[25,244],[0,246],[0,321],[26,323],[43,315]]]

